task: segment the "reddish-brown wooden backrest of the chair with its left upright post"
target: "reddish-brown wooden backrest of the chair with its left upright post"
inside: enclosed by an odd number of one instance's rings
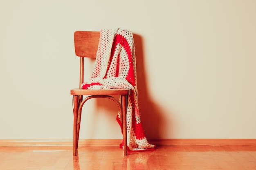
[[[80,81],[79,88],[83,83],[83,57],[96,58],[99,45],[99,31],[75,31],[75,53],[80,57]]]

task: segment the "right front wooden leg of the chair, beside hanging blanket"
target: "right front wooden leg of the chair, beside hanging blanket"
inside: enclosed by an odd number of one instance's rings
[[[124,135],[124,155],[127,155],[127,127],[126,127],[126,113],[127,113],[127,96],[122,95],[122,125],[123,125],[123,135]]]

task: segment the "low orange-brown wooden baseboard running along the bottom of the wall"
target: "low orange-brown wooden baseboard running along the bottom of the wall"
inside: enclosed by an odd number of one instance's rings
[[[119,146],[122,139],[79,139],[79,146]],[[148,139],[157,146],[256,146],[256,139]],[[73,146],[73,139],[0,139],[2,146]]]

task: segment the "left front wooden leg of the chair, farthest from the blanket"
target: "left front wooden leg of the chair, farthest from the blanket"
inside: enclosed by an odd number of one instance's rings
[[[78,108],[79,108],[79,101],[78,101],[78,95],[74,95],[74,101],[73,101],[73,107],[74,107],[74,127],[73,127],[73,156],[77,155],[77,118],[78,118]]]

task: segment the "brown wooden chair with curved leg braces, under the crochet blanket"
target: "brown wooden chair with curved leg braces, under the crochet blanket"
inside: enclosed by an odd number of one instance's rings
[[[73,112],[74,112],[74,134],[73,134],[73,156],[78,155],[78,141],[79,130],[81,122],[81,113],[83,104],[92,98],[108,98],[112,99],[118,106],[124,140],[124,155],[127,155],[127,133],[126,133],[126,112],[127,112],[127,99],[130,94],[129,89],[109,89],[109,90],[85,90],[81,88],[83,83],[83,68],[84,57],[96,58],[98,44],[99,44],[100,32],[94,31],[76,31],[74,33],[74,45],[75,53],[80,57],[80,81],[79,88],[70,90],[70,94],[73,95]],[[87,97],[83,99],[83,95]],[[113,97],[113,95],[120,95],[120,102]]]

